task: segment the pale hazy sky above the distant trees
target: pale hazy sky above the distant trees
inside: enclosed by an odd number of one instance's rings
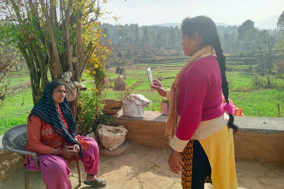
[[[239,25],[247,19],[257,22],[281,14],[284,0],[109,0],[103,9],[120,16],[120,24],[179,23],[187,16],[205,15],[214,22]]]

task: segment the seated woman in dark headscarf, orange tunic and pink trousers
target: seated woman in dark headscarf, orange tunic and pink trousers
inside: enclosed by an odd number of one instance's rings
[[[26,151],[37,153],[43,182],[49,189],[71,189],[68,163],[79,159],[87,173],[84,183],[104,187],[106,182],[95,176],[99,169],[98,145],[94,139],[77,134],[65,92],[66,85],[60,81],[45,86],[40,101],[28,116]],[[30,156],[26,156],[24,167],[39,171]]]

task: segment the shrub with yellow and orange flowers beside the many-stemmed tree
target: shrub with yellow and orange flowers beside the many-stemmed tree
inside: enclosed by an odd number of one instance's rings
[[[95,25],[94,25],[95,24]],[[78,114],[77,114],[77,131],[80,135],[86,135],[92,131],[95,131],[99,123],[110,124],[113,120],[109,117],[101,116],[101,101],[106,96],[105,84],[105,64],[108,55],[110,54],[112,47],[110,41],[106,39],[107,44],[103,45],[101,39],[105,38],[106,35],[102,34],[103,29],[100,29],[98,25],[100,22],[94,22],[86,24],[82,27],[84,35],[84,41],[90,41],[91,38],[93,43],[84,44],[92,45],[91,56],[87,60],[85,66],[88,77],[95,81],[95,88],[89,88],[89,93],[83,92],[79,96],[78,101]],[[83,41],[83,43],[84,43]]]

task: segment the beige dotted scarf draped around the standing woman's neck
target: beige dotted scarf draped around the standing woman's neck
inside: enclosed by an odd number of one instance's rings
[[[166,126],[166,135],[169,135],[170,139],[176,135],[177,125],[178,125],[178,82],[181,77],[181,74],[197,59],[201,58],[205,54],[214,55],[214,50],[211,45],[208,45],[201,50],[194,53],[181,68],[178,75],[175,78],[175,81],[171,87],[170,93],[170,107],[168,114],[168,121]]]

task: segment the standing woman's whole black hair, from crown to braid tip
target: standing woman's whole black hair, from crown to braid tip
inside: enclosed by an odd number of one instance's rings
[[[223,54],[221,42],[217,32],[217,27],[214,21],[207,16],[197,16],[194,18],[185,18],[181,24],[181,31],[183,35],[193,36],[195,31],[198,32],[203,39],[203,46],[212,45],[219,63],[221,78],[222,78],[222,92],[225,97],[227,105],[229,105],[229,88],[226,77],[226,57]],[[232,128],[234,133],[238,127],[234,124],[233,114],[229,114],[228,127]]]

